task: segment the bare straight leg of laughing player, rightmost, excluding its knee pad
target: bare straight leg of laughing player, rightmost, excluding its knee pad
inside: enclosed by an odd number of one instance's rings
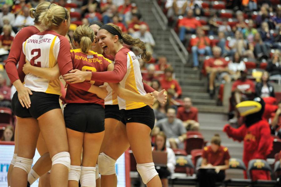
[[[138,164],[153,162],[150,142],[151,129],[147,125],[141,123],[127,123],[126,130],[136,162]],[[159,176],[156,175],[146,184],[146,186],[162,187]]]

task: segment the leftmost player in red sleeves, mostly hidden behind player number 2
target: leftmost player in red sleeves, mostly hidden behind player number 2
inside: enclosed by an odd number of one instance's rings
[[[30,9],[30,16],[34,19],[34,26],[28,26],[22,28],[14,38],[13,44],[11,51],[9,53],[9,57],[7,59],[5,69],[8,74],[8,77],[10,78],[10,81],[12,84],[16,87],[17,92],[18,92],[18,97],[19,100],[22,101],[22,106],[27,106],[29,105],[29,93],[30,90],[22,85],[23,79],[25,74],[22,71],[23,63],[19,63],[18,61],[20,59],[21,51],[22,51],[22,42],[24,42],[28,37],[31,35],[38,33],[43,30],[43,27],[40,26],[41,23],[39,22],[39,16],[40,14],[45,11],[47,8],[57,6],[56,4],[51,4],[50,2],[42,2],[38,4],[37,9],[31,8]],[[16,67],[18,64],[18,68]],[[17,120],[17,124],[20,123],[20,120]],[[37,120],[34,120],[33,123],[37,123]],[[16,125],[17,126],[17,125]],[[40,139],[39,135],[39,139]],[[46,151],[46,145],[44,141],[38,141],[38,147],[37,150],[39,151],[40,155],[42,156],[37,163],[34,165],[34,167],[31,170],[31,174],[28,176],[28,181],[30,183],[33,183],[39,175],[43,175],[46,173],[48,170],[46,167],[38,167],[38,165],[42,165],[42,163],[46,162],[46,158],[49,157],[48,151]],[[14,155],[13,159],[11,161],[11,164],[8,169],[8,175],[7,175],[7,181],[8,185],[10,185],[10,177],[11,177],[11,172],[13,169],[13,166],[15,164],[17,157],[17,128],[15,132],[15,150],[14,150]],[[44,166],[44,165],[43,165]],[[33,170],[34,169],[34,170]]]

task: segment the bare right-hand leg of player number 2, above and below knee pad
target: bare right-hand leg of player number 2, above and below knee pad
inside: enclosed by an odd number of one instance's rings
[[[46,112],[38,119],[42,136],[52,158],[60,152],[68,152],[67,133],[61,109]],[[52,135],[52,138],[50,138]],[[62,164],[52,165],[50,183],[52,187],[67,187],[68,168]]]

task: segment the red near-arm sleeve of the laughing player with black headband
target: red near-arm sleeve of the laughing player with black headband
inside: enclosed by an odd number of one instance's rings
[[[117,54],[113,71],[92,72],[91,81],[119,83],[127,72],[127,56]]]

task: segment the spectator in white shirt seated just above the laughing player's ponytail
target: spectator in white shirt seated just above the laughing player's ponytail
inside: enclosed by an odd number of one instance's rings
[[[146,51],[153,52],[153,47],[155,46],[155,41],[152,34],[147,30],[145,24],[140,25],[140,30],[133,33],[134,38],[140,38],[142,42],[145,43]]]

